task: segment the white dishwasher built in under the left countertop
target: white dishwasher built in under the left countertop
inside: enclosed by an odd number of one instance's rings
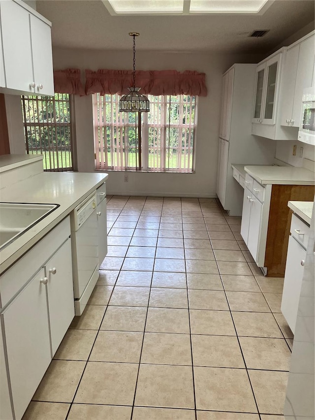
[[[81,315],[98,279],[96,193],[71,213],[71,246],[75,315]]]

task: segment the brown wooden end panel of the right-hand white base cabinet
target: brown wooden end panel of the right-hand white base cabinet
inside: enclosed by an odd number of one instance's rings
[[[287,202],[313,201],[314,193],[312,185],[272,186],[264,263],[267,276],[284,277],[292,214]]]

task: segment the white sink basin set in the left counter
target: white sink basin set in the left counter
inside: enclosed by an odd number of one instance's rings
[[[54,211],[59,204],[0,202],[0,250]]]

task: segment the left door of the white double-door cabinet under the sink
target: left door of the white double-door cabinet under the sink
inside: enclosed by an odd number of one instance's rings
[[[2,314],[16,419],[22,418],[51,361],[44,279],[41,269]]]

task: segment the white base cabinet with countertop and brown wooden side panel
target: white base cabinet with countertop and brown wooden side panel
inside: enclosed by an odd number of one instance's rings
[[[245,165],[244,170],[241,235],[265,275],[284,277],[291,223],[287,202],[314,199],[314,172],[276,165]]]

